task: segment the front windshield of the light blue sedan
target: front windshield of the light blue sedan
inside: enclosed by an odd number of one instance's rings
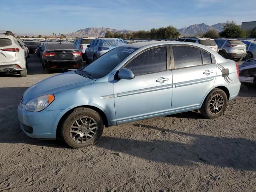
[[[114,48],[92,62],[92,64],[82,68],[81,71],[88,74],[91,78],[102,78],[136,49],[123,46]]]

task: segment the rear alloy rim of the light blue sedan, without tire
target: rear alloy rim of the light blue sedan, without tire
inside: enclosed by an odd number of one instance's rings
[[[210,112],[214,115],[219,114],[224,107],[224,97],[220,94],[215,94],[212,96],[209,102]]]

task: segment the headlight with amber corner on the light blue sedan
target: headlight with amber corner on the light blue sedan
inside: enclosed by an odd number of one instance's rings
[[[50,105],[54,101],[55,97],[54,95],[44,95],[37,98],[34,98],[26,103],[25,109],[27,111],[42,111],[45,109],[48,105]]]

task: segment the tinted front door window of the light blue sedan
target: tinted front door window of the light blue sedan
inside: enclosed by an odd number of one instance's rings
[[[147,50],[138,55],[125,68],[130,69],[134,75],[160,72],[166,70],[166,47]]]

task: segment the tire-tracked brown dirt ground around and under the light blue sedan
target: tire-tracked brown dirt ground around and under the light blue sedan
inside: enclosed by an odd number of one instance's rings
[[[243,88],[215,120],[186,112],[105,128],[99,142],[71,149],[21,130],[23,92],[42,74],[0,76],[0,192],[256,190],[256,89]]]

